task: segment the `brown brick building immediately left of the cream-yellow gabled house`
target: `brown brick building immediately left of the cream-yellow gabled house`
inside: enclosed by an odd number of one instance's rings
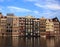
[[[46,35],[46,19],[44,17],[40,18],[40,35]]]

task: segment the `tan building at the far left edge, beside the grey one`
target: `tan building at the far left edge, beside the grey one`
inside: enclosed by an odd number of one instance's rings
[[[7,17],[0,13],[0,36],[6,36]]]

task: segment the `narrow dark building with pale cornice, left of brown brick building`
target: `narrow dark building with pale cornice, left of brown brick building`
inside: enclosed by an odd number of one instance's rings
[[[33,21],[33,36],[40,36],[40,20],[39,18]]]

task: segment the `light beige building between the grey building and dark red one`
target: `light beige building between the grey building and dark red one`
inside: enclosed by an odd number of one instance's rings
[[[12,35],[19,36],[19,18],[16,16],[13,17]]]

